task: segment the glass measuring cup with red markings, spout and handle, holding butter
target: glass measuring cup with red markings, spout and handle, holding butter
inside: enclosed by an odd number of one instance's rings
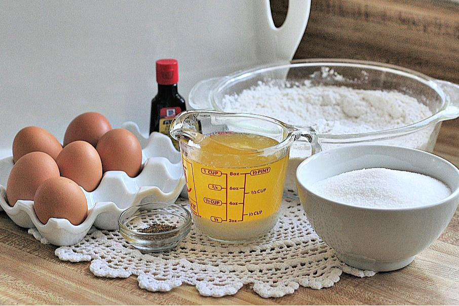
[[[193,221],[208,237],[241,243],[277,222],[290,147],[295,140],[322,150],[312,127],[256,114],[181,112],[170,134],[179,140]]]

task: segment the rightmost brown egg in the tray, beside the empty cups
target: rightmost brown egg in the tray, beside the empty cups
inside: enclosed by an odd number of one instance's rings
[[[113,129],[100,138],[96,146],[103,172],[121,170],[135,177],[142,166],[142,147],[130,131]]]

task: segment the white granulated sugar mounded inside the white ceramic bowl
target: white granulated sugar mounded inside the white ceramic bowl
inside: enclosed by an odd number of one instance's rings
[[[378,208],[428,205],[451,195],[451,190],[435,178],[386,168],[341,173],[313,184],[310,189],[336,202]]]

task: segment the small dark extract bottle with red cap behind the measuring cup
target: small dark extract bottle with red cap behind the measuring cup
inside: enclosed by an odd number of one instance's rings
[[[178,62],[175,59],[156,61],[156,82],[158,93],[151,100],[150,134],[160,132],[169,136],[178,148],[178,141],[170,136],[172,120],[186,109],[185,99],[178,93]]]

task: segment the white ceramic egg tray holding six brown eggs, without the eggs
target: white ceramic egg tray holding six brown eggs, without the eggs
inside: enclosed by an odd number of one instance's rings
[[[159,201],[173,203],[185,186],[180,153],[166,135],[154,132],[144,137],[133,122],[122,128],[131,131],[142,146],[142,169],[136,177],[124,171],[107,171],[92,192],[83,190],[88,202],[88,216],[79,225],[67,219],[50,218],[43,224],[35,214],[33,201],[19,200],[11,207],[6,185],[13,168],[13,157],[0,160],[0,211],[18,226],[32,228],[51,244],[69,246],[79,243],[94,225],[101,230],[118,230],[118,217],[130,206]]]

